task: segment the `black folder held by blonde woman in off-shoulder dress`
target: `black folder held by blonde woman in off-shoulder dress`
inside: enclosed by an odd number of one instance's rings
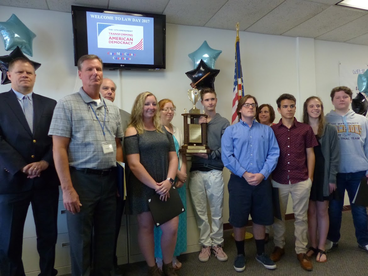
[[[167,201],[162,201],[159,194],[155,194],[148,199],[148,206],[156,227],[185,212],[175,185],[171,186],[169,193],[170,197],[167,198]]]

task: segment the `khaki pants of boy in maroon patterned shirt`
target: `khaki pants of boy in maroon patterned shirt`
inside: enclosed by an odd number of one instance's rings
[[[312,181],[308,178],[305,181],[295,184],[280,184],[272,180],[272,186],[279,188],[280,210],[282,216],[282,220],[275,218],[275,223],[273,224],[273,243],[280,248],[284,248],[285,246],[285,213],[289,194],[291,194],[295,216],[295,251],[297,254],[305,253],[308,244],[307,211]]]

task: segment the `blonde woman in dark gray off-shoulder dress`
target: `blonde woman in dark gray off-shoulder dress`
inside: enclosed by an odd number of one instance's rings
[[[148,275],[159,276],[155,262],[155,224],[148,199],[158,194],[165,201],[178,170],[173,135],[160,123],[157,99],[151,92],[140,93],[134,101],[130,123],[125,131],[125,153],[131,173],[128,176],[126,213],[137,215],[138,244],[149,266]],[[160,226],[162,270],[177,276],[172,260],[178,230],[178,216]]]

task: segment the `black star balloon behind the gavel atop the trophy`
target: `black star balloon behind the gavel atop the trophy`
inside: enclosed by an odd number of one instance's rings
[[[197,81],[199,81],[202,77],[204,77],[207,73],[209,75],[202,79],[200,82],[198,82],[197,89],[202,89],[205,87],[210,87],[215,89],[215,85],[213,82],[215,82],[215,78],[217,74],[219,74],[220,70],[212,69],[211,67],[207,66],[206,63],[201,60],[197,66],[197,68],[188,71],[185,73],[185,75],[190,78],[190,80],[195,84]]]

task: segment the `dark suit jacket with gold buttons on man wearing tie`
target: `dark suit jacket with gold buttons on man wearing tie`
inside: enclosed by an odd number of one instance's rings
[[[0,194],[13,194],[59,185],[48,132],[56,101],[33,93],[33,135],[17,96],[0,93]],[[40,177],[27,178],[20,170],[45,160],[49,167]]]

